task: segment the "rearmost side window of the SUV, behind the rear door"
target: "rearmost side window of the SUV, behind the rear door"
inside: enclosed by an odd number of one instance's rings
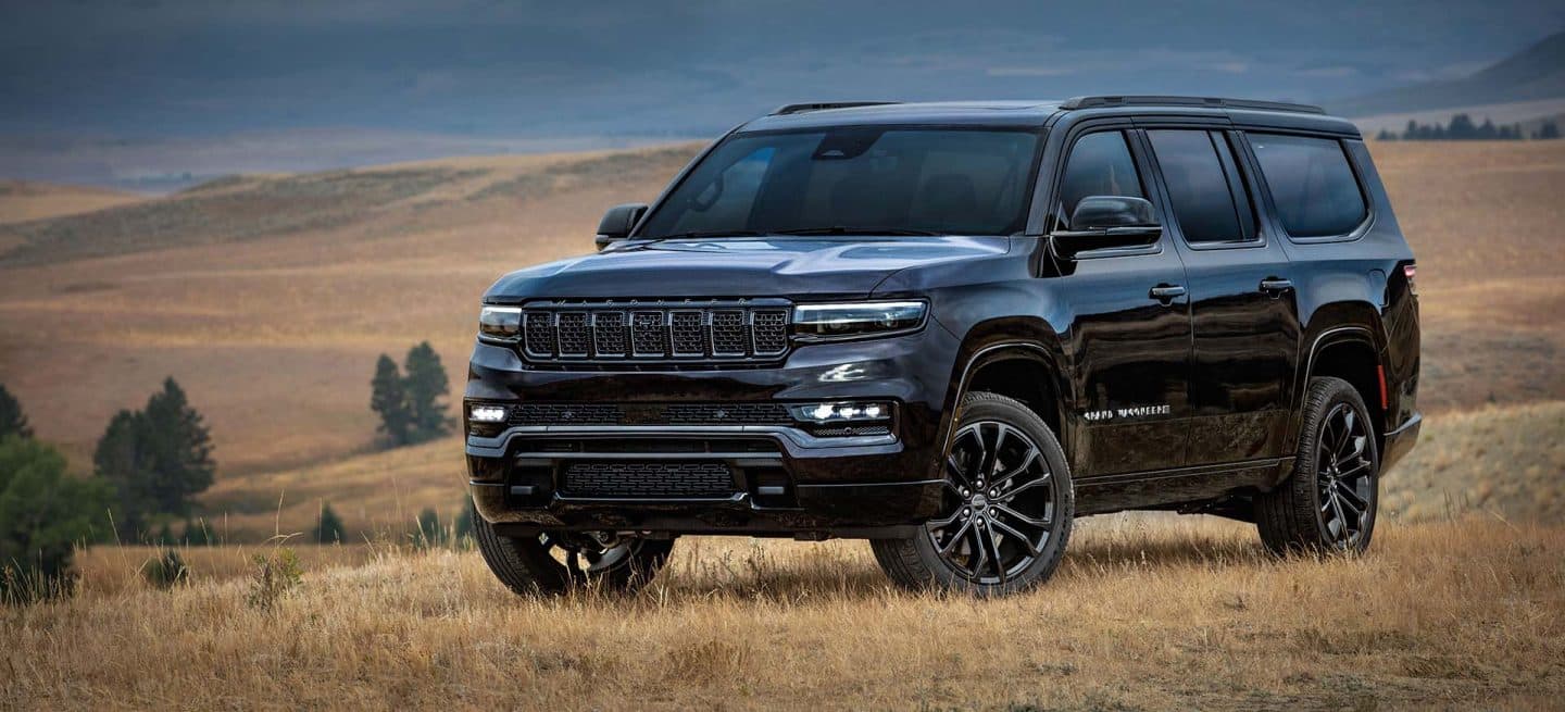
[[[1249,138],[1288,235],[1346,235],[1369,214],[1340,141],[1274,133]]]

